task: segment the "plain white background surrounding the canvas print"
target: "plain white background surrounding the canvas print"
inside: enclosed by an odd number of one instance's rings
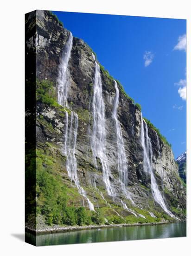
[[[24,13],[35,9],[187,19],[187,56],[191,56],[189,0],[25,0],[1,2],[0,12],[0,252],[1,255],[189,255],[190,191],[187,238],[34,247],[24,236]],[[189,33],[188,33],[189,32]],[[187,155],[190,157],[190,68],[187,58]],[[190,160],[187,160],[190,183]],[[23,234],[23,235],[22,235]],[[15,235],[19,235],[15,237]],[[191,243],[191,242],[190,242]]]

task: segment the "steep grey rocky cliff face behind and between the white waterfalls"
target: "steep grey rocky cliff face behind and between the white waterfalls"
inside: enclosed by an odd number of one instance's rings
[[[70,88],[68,108],[57,104],[57,77],[59,64],[70,32],[47,11],[36,11],[26,16],[26,56],[36,52],[36,141],[37,157],[47,172],[59,176],[68,188],[68,204],[84,206],[88,202],[70,178],[66,169],[66,157],[63,154],[66,111],[70,125],[71,110],[78,115],[76,140],[77,175],[81,186],[86,190],[94,208],[102,209],[107,218],[110,215],[124,216],[141,214],[166,218],[168,216],[153,199],[151,176],[143,168],[143,148],[140,143],[141,112],[130,97],[125,94],[121,84],[119,88],[118,120],[121,125],[124,148],[127,157],[127,191],[132,200],[122,193],[119,183],[117,163],[117,142],[113,106],[115,101],[114,79],[101,66],[102,96],[105,103],[106,155],[109,166],[109,180],[116,196],[109,196],[103,182],[102,166],[97,159],[97,168],[93,161],[91,137],[93,129],[92,98],[95,77],[95,60],[91,48],[81,39],[73,38],[71,56],[68,64]],[[30,55],[31,54],[31,55]],[[96,60],[97,61],[97,60]],[[30,80],[30,67],[26,74]],[[174,161],[172,149],[160,139],[156,131],[148,125],[148,135],[153,148],[153,173],[159,191],[167,208],[179,219],[185,219],[186,192],[178,176],[178,166]],[[127,205],[124,209],[122,203]],[[42,205],[38,199],[37,205]],[[169,217],[170,218],[170,217]],[[154,219],[154,217],[153,217]]]

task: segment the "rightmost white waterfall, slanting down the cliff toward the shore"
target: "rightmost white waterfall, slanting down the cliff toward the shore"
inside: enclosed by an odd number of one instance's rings
[[[164,199],[159,191],[156,179],[154,177],[153,173],[153,150],[152,150],[152,144],[151,140],[148,136],[148,127],[146,122],[142,118],[141,114],[141,145],[143,148],[143,169],[146,173],[151,175],[151,190],[153,194],[153,198],[155,202],[157,202],[161,208],[171,217],[174,217],[174,215],[167,209],[166,204],[164,202]]]

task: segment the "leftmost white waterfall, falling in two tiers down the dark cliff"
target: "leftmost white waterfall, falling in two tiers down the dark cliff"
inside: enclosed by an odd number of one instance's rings
[[[72,49],[73,36],[70,33],[69,39],[66,42],[65,49],[62,56],[62,61],[59,65],[58,79],[57,79],[57,102],[63,107],[68,106],[68,89],[70,87],[70,72],[68,70],[68,62],[70,60],[70,53]],[[89,209],[94,210],[94,205],[90,202],[85,190],[80,186],[77,176],[77,161],[75,156],[76,139],[78,128],[78,115],[71,111],[71,119],[69,126],[68,112],[65,111],[65,132],[64,132],[64,146],[63,153],[66,155],[66,169],[71,182],[73,181],[78,189],[78,192],[86,198],[89,204]]]

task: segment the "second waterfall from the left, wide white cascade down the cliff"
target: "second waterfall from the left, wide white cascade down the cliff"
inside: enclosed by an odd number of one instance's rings
[[[93,55],[94,60],[95,56]],[[91,140],[91,148],[94,163],[97,167],[96,158],[99,158],[102,164],[103,181],[106,185],[108,195],[115,196],[115,190],[112,189],[109,180],[108,159],[106,156],[106,128],[105,128],[105,105],[102,98],[102,79],[100,75],[100,67],[95,61],[95,78],[93,93],[93,133]]]

